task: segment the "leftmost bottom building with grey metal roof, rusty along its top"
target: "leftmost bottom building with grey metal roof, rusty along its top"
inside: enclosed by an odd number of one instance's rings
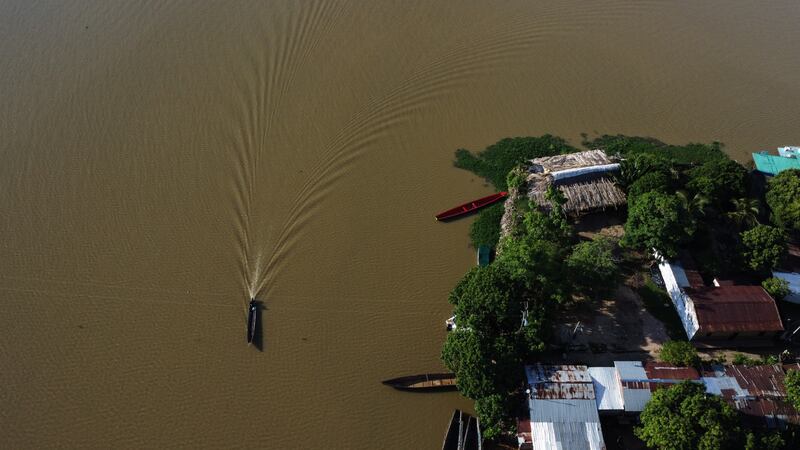
[[[520,448],[605,449],[592,377],[586,366],[526,366],[530,427],[520,427]],[[528,433],[527,436],[525,433]],[[530,439],[529,442],[526,442]],[[527,445],[530,444],[530,447]]]

